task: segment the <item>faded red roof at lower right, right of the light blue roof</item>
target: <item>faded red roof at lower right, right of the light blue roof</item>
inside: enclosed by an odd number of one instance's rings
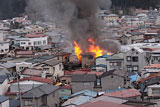
[[[130,98],[130,97],[140,96],[141,93],[136,89],[125,89],[121,91],[106,93],[104,95],[110,97]]]

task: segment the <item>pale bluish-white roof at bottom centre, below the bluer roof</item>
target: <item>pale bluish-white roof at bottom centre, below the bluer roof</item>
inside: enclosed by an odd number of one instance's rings
[[[76,99],[76,100],[73,102],[73,104],[75,104],[75,105],[80,105],[80,104],[83,104],[83,103],[85,103],[85,102],[88,102],[88,101],[91,100],[91,99],[92,99],[92,97],[90,97],[90,96],[79,96],[79,98]]]

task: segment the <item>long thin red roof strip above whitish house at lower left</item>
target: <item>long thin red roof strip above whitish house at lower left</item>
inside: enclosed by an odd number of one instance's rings
[[[41,78],[41,77],[26,77],[26,78],[19,79],[19,82],[26,81],[26,80],[52,84],[52,80],[51,79],[46,79],[46,78]],[[17,82],[17,80],[13,80],[13,81],[10,82],[10,84],[16,83],[16,82]]]

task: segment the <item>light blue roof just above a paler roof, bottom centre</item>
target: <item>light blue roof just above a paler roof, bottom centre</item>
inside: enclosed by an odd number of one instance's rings
[[[71,97],[75,97],[75,96],[78,96],[78,95],[96,97],[97,96],[97,92],[91,91],[91,90],[82,90],[82,91],[79,91],[79,92],[76,92],[76,93],[72,94]]]

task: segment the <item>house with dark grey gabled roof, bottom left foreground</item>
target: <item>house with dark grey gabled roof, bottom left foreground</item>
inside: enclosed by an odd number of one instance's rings
[[[22,95],[21,107],[58,107],[60,87],[49,84],[33,87]]]

